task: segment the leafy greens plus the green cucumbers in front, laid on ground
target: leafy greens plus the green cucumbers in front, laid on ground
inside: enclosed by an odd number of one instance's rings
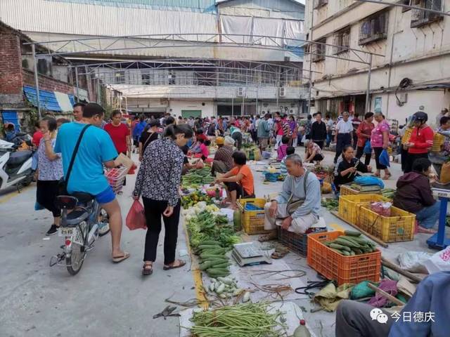
[[[225,277],[230,274],[226,252],[240,242],[226,216],[202,211],[187,220],[189,241],[200,257],[200,270],[209,277]]]

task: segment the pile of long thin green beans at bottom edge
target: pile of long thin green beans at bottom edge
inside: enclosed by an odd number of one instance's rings
[[[283,312],[268,312],[267,303],[229,305],[194,312],[191,333],[195,337],[277,337],[283,336]]]

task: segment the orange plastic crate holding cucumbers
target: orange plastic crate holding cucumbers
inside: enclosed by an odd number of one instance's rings
[[[328,248],[327,242],[344,235],[344,232],[311,233],[308,235],[308,265],[327,279],[338,282],[357,284],[362,281],[380,280],[381,252],[343,256]]]

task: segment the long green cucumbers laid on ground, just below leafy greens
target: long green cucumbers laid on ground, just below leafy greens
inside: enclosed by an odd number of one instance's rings
[[[231,263],[225,255],[227,251],[229,249],[222,248],[220,242],[203,241],[196,251],[202,261],[199,266],[200,270],[203,270],[209,277],[213,278],[230,275],[228,267]]]

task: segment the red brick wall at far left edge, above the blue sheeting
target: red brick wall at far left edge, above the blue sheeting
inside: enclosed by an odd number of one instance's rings
[[[22,54],[16,32],[0,25],[0,93],[22,94]]]

